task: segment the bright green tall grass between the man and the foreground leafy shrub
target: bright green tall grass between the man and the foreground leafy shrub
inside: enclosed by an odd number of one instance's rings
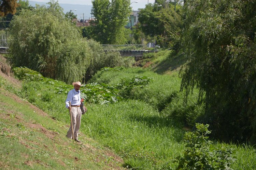
[[[183,150],[184,130],[137,100],[93,105],[82,120],[82,131],[125,158],[125,167],[169,169]]]

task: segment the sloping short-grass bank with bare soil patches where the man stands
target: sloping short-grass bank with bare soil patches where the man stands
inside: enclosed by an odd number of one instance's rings
[[[82,144],[67,139],[68,123],[18,98],[11,92],[14,83],[1,75],[1,169],[122,169],[122,158],[93,139],[83,134]]]

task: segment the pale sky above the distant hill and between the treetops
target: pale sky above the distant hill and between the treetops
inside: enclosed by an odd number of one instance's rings
[[[34,2],[49,2],[50,0],[31,0]],[[138,3],[135,3],[137,1]],[[134,3],[132,3],[134,2]],[[131,7],[133,10],[138,10],[138,8],[144,8],[148,3],[154,3],[155,0],[131,0]],[[81,5],[92,5],[91,0],[58,0],[58,3],[67,3],[67,4],[81,4]]]

